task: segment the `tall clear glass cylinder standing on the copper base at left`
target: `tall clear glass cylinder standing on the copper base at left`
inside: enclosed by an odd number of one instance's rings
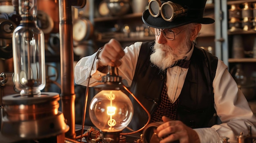
[[[45,42],[36,24],[36,0],[18,3],[22,20],[12,36],[13,79],[20,95],[40,95],[45,87]]]

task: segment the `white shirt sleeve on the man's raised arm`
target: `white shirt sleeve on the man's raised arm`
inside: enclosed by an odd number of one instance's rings
[[[135,73],[141,44],[142,42],[135,42],[130,46],[126,46],[126,48],[124,48],[125,55],[121,59],[122,64],[118,67],[119,76],[126,80],[128,86],[131,84],[133,75]],[[97,70],[100,59],[95,59],[96,55],[97,53],[94,53],[93,55],[83,57],[76,63],[74,68],[74,78],[76,84],[89,87],[102,84],[98,81],[101,81],[101,77],[106,75],[106,73],[101,73],[99,70]],[[89,84],[88,81],[90,82]]]

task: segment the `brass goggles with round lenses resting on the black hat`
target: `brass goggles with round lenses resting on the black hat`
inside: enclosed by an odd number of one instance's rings
[[[187,9],[184,9],[184,7],[182,7],[180,4],[175,4],[170,1],[162,4],[160,0],[150,0],[148,3],[148,10],[150,15],[153,17],[157,17],[161,13],[162,18],[165,21],[173,21],[175,18],[184,15],[187,11]],[[168,10],[170,13],[165,13],[166,10]]]

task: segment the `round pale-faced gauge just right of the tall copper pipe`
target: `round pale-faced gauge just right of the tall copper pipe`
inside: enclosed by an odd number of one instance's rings
[[[77,42],[88,40],[93,33],[92,23],[86,18],[79,18],[73,24],[73,39]]]

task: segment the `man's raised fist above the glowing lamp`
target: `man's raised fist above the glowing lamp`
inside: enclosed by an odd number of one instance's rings
[[[104,45],[100,51],[98,58],[101,60],[101,64],[104,66],[120,66],[120,59],[124,56],[124,50],[121,44],[115,40],[111,39],[108,43]]]

